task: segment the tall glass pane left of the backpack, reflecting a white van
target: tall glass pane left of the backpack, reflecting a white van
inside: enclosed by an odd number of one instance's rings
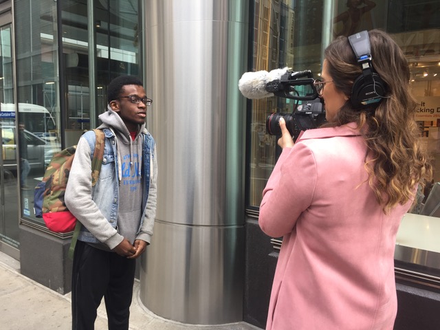
[[[34,217],[33,188],[43,177],[54,151],[61,149],[58,98],[56,2],[15,1],[18,120],[21,162],[21,217]],[[11,104],[15,107],[15,104]],[[26,169],[28,168],[28,170]]]

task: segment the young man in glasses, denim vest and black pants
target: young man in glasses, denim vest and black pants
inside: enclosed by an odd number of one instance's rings
[[[135,259],[150,243],[156,210],[157,157],[145,128],[142,82],[120,76],[108,87],[107,111],[98,129],[105,133],[104,159],[91,186],[94,131],[79,140],[65,203],[83,224],[74,254],[72,329],[94,329],[104,296],[109,330],[129,329]]]

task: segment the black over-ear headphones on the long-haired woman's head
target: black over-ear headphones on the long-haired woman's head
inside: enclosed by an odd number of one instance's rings
[[[351,89],[353,107],[367,107],[385,98],[386,84],[371,64],[369,32],[362,31],[349,36],[349,42],[356,60],[362,65],[362,74],[356,78]]]

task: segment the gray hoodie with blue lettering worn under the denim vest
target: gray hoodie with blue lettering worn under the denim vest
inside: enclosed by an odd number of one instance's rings
[[[102,215],[95,201],[91,199],[90,174],[84,168],[90,168],[90,146],[84,138],[78,142],[74,163],[70,175],[75,177],[75,183],[69,180],[65,193],[67,208],[75,217],[83,223],[85,228],[96,239],[104,243],[98,248],[109,250],[115,248],[123,237],[131,243],[135,239],[142,239],[150,243],[153,234],[153,224],[156,204],[156,179],[157,157],[151,162],[151,185],[146,205],[146,213],[142,228],[140,219],[142,216],[142,144],[144,142],[141,133],[147,133],[145,124],[140,126],[135,140],[131,140],[130,133],[118,113],[109,109],[99,116],[102,125],[98,128],[110,129],[115,134],[115,156],[118,157],[117,173],[119,181],[118,220],[117,228],[113,228]],[[155,150],[153,151],[155,153]],[[71,184],[72,181],[72,184]],[[78,201],[80,201],[78,203]]]

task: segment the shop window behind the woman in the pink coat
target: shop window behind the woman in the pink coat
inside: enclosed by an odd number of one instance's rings
[[[332,13],[332,26],[322,29],[326,12]],[[420,139],[434,165],[433,181],[419,191],[416,207],[399,228],[396,274],[408,281],[423,278],[424,283],[440,287],[440,1],[254,1],[251,70],[310,69],[318,78],[327,38],[322,31],[329,31],[331,41],[373,28],[390,33],[408,58]],[[252,100],[248,210],[258,210],[279,153],[276,137],[267,129],[267,117],[274,112],[292,113],[295,105],[289,98]],[[279,239],[272,241],[279,247]]]

